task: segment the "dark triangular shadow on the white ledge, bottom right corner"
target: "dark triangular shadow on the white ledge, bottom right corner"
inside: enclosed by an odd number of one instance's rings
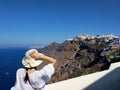
[[[120,67],[114,69],[84,90],[120,90]]]

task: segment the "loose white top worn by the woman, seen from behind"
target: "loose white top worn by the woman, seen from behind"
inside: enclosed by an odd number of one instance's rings
[[[28,73],[29,81],[24,82],[26,70],[24,68],[18,69],[16,73],[16,84],[11,90],[43,90],[45,84],[50,80],[54,74],[54,67],[52,64],[48,64],[41,70],[37,70],[33,73]],[[37,89],[38,90],[38,89]]]

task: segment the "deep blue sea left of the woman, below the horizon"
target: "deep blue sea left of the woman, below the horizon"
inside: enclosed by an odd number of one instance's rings
[[[0,49],[0,90],[10,90],[15,84],[16,71],[22,66],[22,58],[28,48]]]

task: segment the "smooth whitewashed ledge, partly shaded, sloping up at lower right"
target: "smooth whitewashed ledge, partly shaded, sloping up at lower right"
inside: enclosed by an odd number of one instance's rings
[[[105,71],[48,84],[45,90],[120,90],[120,62]]]

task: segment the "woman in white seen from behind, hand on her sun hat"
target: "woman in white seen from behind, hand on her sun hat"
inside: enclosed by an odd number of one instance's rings
[[[37,70],[42,61],[47,61],[49,64]],[[17,70],[16,83],[11,90],[43,90],[55,72],[56,60],[39,53],[36,49],[31,49],[26,52],[22,64],[25,68]]]

